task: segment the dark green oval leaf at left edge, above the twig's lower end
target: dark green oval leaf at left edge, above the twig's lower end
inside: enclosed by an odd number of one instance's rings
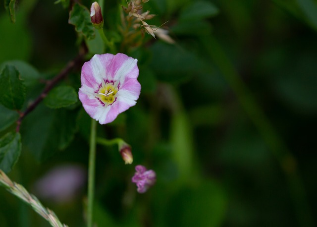
[[[25,100],[25,85],[19,72],[6,65],[0,74],[0,103],[11,110],[20,110]]]

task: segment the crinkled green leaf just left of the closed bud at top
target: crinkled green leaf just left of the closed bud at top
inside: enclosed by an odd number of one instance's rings
[[[89,10],[78,3],[75,3],[69,12],[68,23],[75,25],[76,32],[84,35],[88,40],[95,38],[95,30],[91,23]]]

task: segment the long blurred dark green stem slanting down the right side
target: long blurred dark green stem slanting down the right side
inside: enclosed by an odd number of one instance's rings
[[[262,108],[253,98],[252,93],[236,72],[233,64],[230,62],[217,40],[211,36],[202,37],[201,41],[214,63],[220,69],[223,77],[234,91],[246,114],[250,117],[251,121],[253,121],[264,138],[264,141],[278,160],[281,169],[284,171],[300,226],[314,226],[303,182],[298,173],[294,156],[288,150],[287,145],[276,132]]]

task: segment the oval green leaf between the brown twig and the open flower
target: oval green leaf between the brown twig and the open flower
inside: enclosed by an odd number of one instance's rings
[[[45,105],[53,109],[68,107],[77,101],[75,89],[70,86],[56,87],[44,99]]]

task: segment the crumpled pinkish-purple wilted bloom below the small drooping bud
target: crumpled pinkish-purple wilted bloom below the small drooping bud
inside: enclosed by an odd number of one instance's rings
[[[132,177],[132,182],[136,183],[139,193],[146,192],[157,181],[157,174],[154,170],[147,170],[144,166],[135,167],[136,172]]]

